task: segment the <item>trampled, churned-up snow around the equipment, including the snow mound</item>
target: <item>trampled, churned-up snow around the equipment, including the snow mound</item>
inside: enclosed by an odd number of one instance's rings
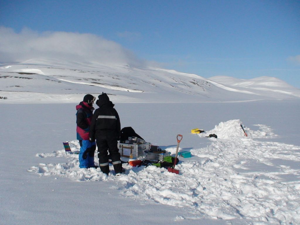
[[[190,150],[192,157],[176,165],[179,175],[155,166],[123,164],[127,176],[106,176],[99,169],[79,169],[78,156],[65,155],[64,150],[37,156],[67,157],[66,164],[39,164],[29,171],[78,181],[116,182],[114,188],[125,197],[182,207],[181,219],[299,224],[300,147],[268,141],[276,135],[265,125],[256,125],[259,131],[245,128],[245,137],[240,124],[239,120],[221,122],[199,134],[218,138],[211,138],[210,146]],[[76,141],[70,146],[72,151],[79,149]]]

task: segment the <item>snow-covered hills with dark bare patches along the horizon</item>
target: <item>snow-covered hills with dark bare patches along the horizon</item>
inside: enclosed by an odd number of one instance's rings
[[[29,60],[0,66],[5,102],[78,102],[106,92],[115,102],[226,102],[300,98],[300,89],[273,77],[250,80],[121,64]],[[0,102],[3,102],[1,99]]]

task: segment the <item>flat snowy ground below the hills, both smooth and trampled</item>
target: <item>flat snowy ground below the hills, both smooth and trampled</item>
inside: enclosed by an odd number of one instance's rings
[[[172,153],[182,134],[192,154],[179,175],[124,164],[121,177],[65,154],[75,104],[0,104],[0,224],[299,224],[299,103],[116,103],[122,127]]]

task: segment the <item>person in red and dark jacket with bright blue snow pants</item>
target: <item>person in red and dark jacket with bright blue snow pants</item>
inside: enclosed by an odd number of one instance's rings
[[[77,140],[80,144],[79,152],[79,167],[90,168],[94,167],[94,154],[96,150],[96,143],[89,141],[90,125],[93,116],[93,103],[95,101],[93,95],[85,95],[83,101],[76,106],[76,132]]]

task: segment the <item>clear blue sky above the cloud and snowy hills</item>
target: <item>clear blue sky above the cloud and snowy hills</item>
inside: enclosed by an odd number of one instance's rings
[[[164,68],[203,77],[274,76],[300,88],[296,0],[2,0],[0,26],[90,33]]]

